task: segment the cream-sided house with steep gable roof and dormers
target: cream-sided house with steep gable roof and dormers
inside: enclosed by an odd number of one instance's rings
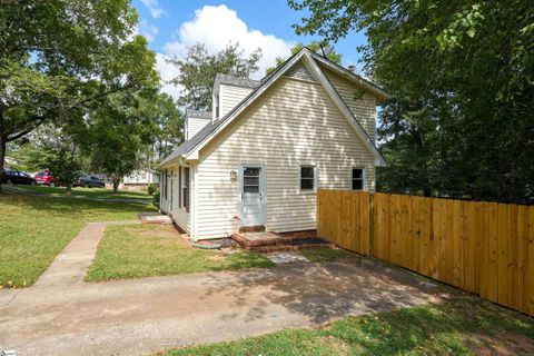
[[[316,190],[375,189],[376,105],[389,95],[303,49],[260,81],[217,75],[161,171],[164,212],[194,240],[316,228]]]

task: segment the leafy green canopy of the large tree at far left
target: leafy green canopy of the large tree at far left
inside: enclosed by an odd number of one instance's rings
[[[7,142],[61,125],[96,98],[154,83],[155,55],[132,37],[137,19],[128,0],[2,2],[0,178]]]

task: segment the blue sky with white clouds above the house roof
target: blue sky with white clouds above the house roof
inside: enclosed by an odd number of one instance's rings
[[[290,48],[307,43],[314,37],[297,36],[291,24],[299,23],[305,12],[291,10],[286,0],[134,0],[139,12],[137,32],[145,36],[150,48],[157,53],[158,70],[164,81],[177,76],[177,69],[166,59],[185,58],[187,46],[201,42],[209,53],[220,51],[230,41],[239,42],[245,55],[258,47],[261,60],[253,78],[260,79],[277,57],[287,58]],[[343,65],[358,68],[359,53],[356,47],[365,44],[363,33],[352,33],[335,43],[343,55]],[[162,91],[177,98],[179,88],[164,85]]]

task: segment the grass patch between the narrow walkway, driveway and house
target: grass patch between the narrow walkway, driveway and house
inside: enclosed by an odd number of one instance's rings
[[[191,248],[170,226],[109,226],[98,247],[97,257],[89,268],[87,280],[271,266],[274,264],[259,254]]]

